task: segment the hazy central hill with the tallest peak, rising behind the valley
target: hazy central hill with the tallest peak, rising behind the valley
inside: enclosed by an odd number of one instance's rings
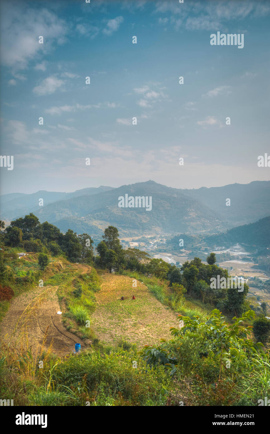
[[[118,197],[151,196],[152,210],[145,208],[119,208]],[[156,184],[153,181],[123,185],[111,191],[94,195],[73,197],[58,201],[39,209],[36,214],[41,221],[54,222],[61,230],[72,224],[88,229],[88,233],[99,234],[106,226],[119,229],[121,236],[135,233],[191,232],[219,230],[228,225],[219,215],[176,188]],[[87,226],[86,226],[87,225]],[[71,226],[69,226],[71,227]]]

